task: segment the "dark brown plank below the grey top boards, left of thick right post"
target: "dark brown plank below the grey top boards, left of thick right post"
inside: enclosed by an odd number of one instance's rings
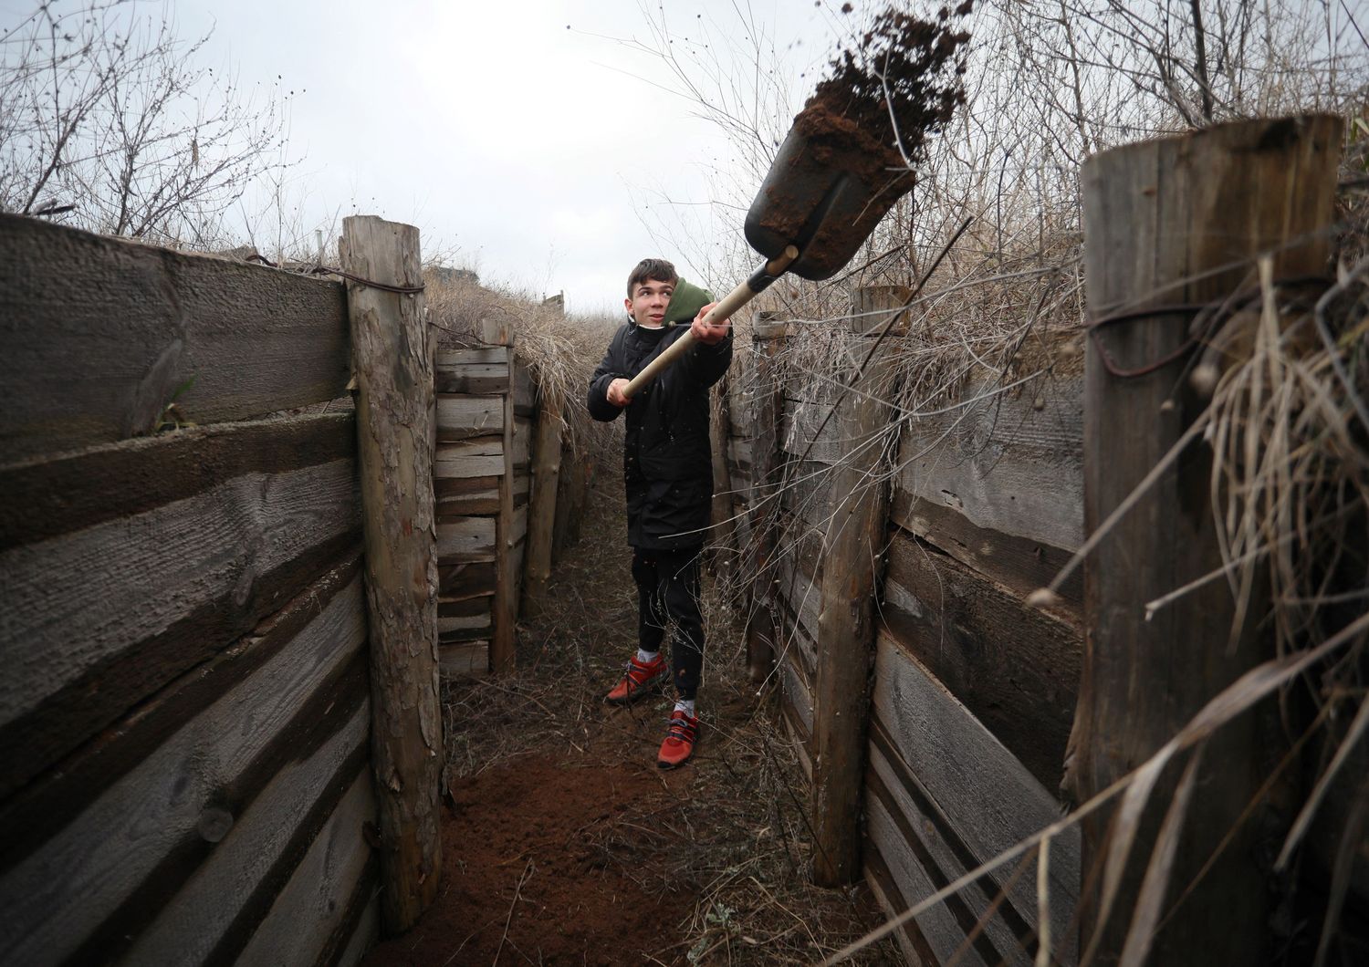
[[[888,543],[884,626],[1047,789],[1075,721],[1083,633],[905,533]]]

